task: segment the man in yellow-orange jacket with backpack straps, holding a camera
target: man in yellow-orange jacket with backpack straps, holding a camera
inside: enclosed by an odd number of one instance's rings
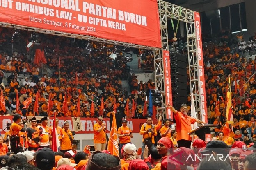
[[[142,138],[142,153],[144,153],[145,146],[149,147],[149,151],[154,148],[155,144],[155,136],[157,135],[155,126],[152,124],[152,117],[148,116],[146,118],[146,123],[142,125],[140,128],[139,134],[143,135]],[[142,159],[143,154],[142,154]]]

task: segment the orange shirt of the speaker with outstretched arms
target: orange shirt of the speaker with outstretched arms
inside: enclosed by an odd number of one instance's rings
[[[176,140],[179,141],[181,139],[191,141],[190,133],[191,131],[191,124],[194,124],[197,119],[192,118],[190,116],[184,115],[181,112],[177,112],[174,114],[174,118],[176,119],[176,130],[177,130],[177,138]]]

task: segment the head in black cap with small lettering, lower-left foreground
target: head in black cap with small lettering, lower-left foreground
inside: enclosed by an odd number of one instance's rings
[[[49,148],[40,148],[34,160],[34,165],[40,170],[52,170],[55,167],[55,154]]]

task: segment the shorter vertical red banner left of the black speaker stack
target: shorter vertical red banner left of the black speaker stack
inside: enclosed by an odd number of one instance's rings
[[[165,75],[165,104],[172,106],[172,94],[171,94],[171,69],[170,69],[170,55],[169,51],[163,50],[164,60],[164,75]],[[167,119],[173,118],[171,114],[171,108],[166,108]]]

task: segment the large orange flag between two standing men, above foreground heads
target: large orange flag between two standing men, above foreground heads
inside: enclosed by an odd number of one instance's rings
[[[112,125],[111,125],[110,137],[109,137],[109,141],[108,141],[108,145],[107,145],[107,150],[109,150],[111,154],[119,157],[117,122],[116,122],[115,114],[112,114],[112,115],[113,115],[113,121],[112,121]]]

